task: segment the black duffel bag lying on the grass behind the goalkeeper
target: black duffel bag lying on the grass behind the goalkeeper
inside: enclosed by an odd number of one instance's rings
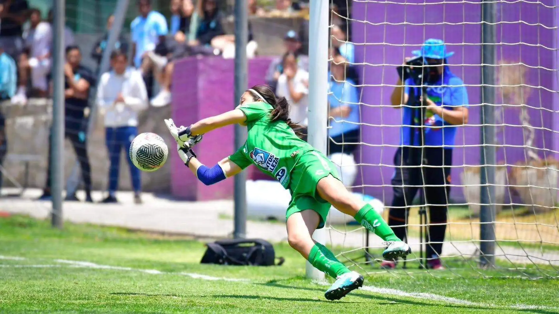
[[[220,240],[207,243],[207,250],[202,256],[202,264],[220,265],[249,265],[249,266],[271,266],[276,254],[274,248],[266,240],[262,239],[236,239]],[[283,258],[278,258],[277,265],[283,264]]]

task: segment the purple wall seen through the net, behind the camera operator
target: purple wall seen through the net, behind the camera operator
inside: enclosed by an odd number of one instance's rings
[[[542,3],[553,6],[551,0]],[[501,42],[497,54],[498,60],[522,61],[528,66],[540,67],[528,72],[527,84],[540,87],[532,88],[527,104],[534,107],[529,110],[533,126],[544,128],[536,131],[534,146],[539,149],[539,155],[547,153],[549,156],[550,151],[559,148],[558,136],[553,136],[559,130],[559,118],[557,113],[551,112],[559,110],[559,106],[555,93],[546,91],[557,91],[556,74],[547,70],[555,69],[556,53],[552,49],[556,48],[556,32],[548,28],[556,26],[556,10],[543,4],[498,4],[497,19],[503,23],[497,28],[497,41]],[[448,50],[454,51],[454,56],[449,58],[451,71],[467,85],[470,121],[457,132],[456,145],[480,144],[480,10],[479,3],[462,1],[446,1],[444,4],[425,4],[424,0],[408,0],[406,4],[353,2],[352,40],[356,44],[356,60],[364,64],[359,73],[365,85],[361,113],[364,123],[362,141],[367,145],[362,147],[360,158],[367,193],[385,202],[391,201],[391,188],[386,185],[390,184],[394,172],[392,157],[399,144],[401,111],[389,107],[394,88],[390,85],[397,81],[395,66],[428,38],[443,39]],[[519,23],[520,20],[525,23]],[[530,25],[538,23],[541,25]],[[504,131],[498,134],[501,145],[523,145],[518,113],[518,108],[504,111],[503,123],[511,126],[504,127]],[[525,161],[524,151],[511,146],[501,148],[498,150],[500,160],[507,164]],[[453,169],[452,183],[461,184],[462,165],[478,165],[479,161],[479,146],[454,149],[453,165],[458,168]],[[453,187],[452,197],[463,200],[462,188]]]

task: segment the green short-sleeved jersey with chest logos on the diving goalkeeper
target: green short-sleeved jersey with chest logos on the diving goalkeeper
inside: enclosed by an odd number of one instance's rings
[[[242,169],[254,163],[288,189],[297,159],[314,148],[299,139],[286,122],[271,122],[273,108],[270,104],[245,103],[239,109],[247,116],[248,138],[229,159]]]

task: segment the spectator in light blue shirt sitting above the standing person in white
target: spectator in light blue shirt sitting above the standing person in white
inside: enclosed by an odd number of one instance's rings
[[[151,11],[150,0],[139,0],[138,6],[140,16],[130,23],[132,35],[132,51],[134,55],[134,65],[140,68],[143,75],[150,71],[150,63],[143,62],[146,53],[159,49],[164,46],[165,36],[167,36],[167,20],[157,12]]]

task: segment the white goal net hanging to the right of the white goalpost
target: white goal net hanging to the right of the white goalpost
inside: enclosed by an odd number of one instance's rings
[[[359,111],[359,120],[355,121],[350,114],[340,114],[330,101],[330,132],[336,129],[336,134],[330,134],[329,146],[332,149],[341,144],[345,150],[343,157],[334,155],[332,158],[341,166],[344,184],[365,197],[378,199],[373,205],[382,211],[385,220],[394,224],[397,221],[394,217],[405,217],[398,225],[405,225],[406,240],[414,252],[406,261],[399,260],[396,267],[391,268],[392,265],[382,261],[382,245],[377,236],[367,233],[358,224],[352,225],[352,218],[331,213],[329,244],[347,265],[368,273],[428,272],[448,275],[451,272],[465,276],[557,277],[557,7],[550,0],[491,3],[495,8],[496,22],[492,25],[495,26],[496,44],[493,46],[496,64],[486,66],[494,74],[495,84],[484,88],[487,85],[484,86],[482,80],[484,22],[481,1],[348,0],[345,3],[349,7],[348,15],[340,13],[339,4],[332,2],[330,43],[339,49],[330,55],[330,68],[335,66],[336,60],[343,60],[334,58],[335,54],[343,55],[347,63],[344,63],[345,79],[335,77],[335,71],[331,69],[330,82],[351,85],[353,88],[344,88],[343,91],[357,93],[357,97],[352,103],[348,100],[352,97],[340,96],[331,88],[329,99],[336,98],[342,105]],[[339,28],[349,36],[339,35]],[[396,171],[395,162],[400,164],[395,155],[401,145],[401,136],[405,137],[400,134],[402,123],[408,121],[405,111],[413,110],[410,102],[402,108],[391,106],[395,102],[394,89],[399,85],[396,67],[401,66],[406,57],[417,55],[413,51],[421,50],[428,39],[444,41],[447,64],[443,77],[452,73],[463,82],[468,99],[464,104],[468,106],[469,118],[467,121],[462,118],[462,122],[466,123],[454,122],[459,125],[455,127],[454,143],[443,140],[450,145],[444,151],[448,154],[452,150],[452,162],[448,164],[448,176],[444,180],[439,178],[442,183],[429,184],[425,180],[430,173],[443,173],[437,172],[436,162],[424,163],[423,159],[423,166],[405,166],[410,176],[418,173],[414,168],[422,168],[423,183],[413,202],[407,202],[403,207],[392,207],[395,204],[395,188],[413,188],[410,180],[393,180],[401,176]],[[354,48],[354,60],[350,60],[350,51],[353,52],[350,48]],[[449,55],[451,52],[454,53],[452,56]],[[427,92],[437,104],[451,99],[449,93],[457,93],[458,88],[453,86],[456,80],[448,83],[443,79],[443,82],[432,87],[438,89],[435,92],[442,95],[442,99],[433,99],[433,94]],[[494,103],[484,106],[482,92],[494,93]],[[400,96],[396,94],[396,103],[400,104]],[[459,107],[462,103],[448,104]],[[496,161],[482,168],[481,149],[487,144],[481,140],[484,130],[481,115],[489,106],[494,108],[490,121],[495,121],[491,125],[495,131],[495,144],[489,144],[489,149],[495,150]],[[454,108],[454,112],[461,110]],[[452,123],[448,122],[449,117],[431,117],[428,113],[422,117],[420,120],[423,123],[420,121],[419,124],[425,128],[425,150],[419,151],[426,157],[429,156],[426,153],[428,149],[440,145],[436,140],[428,140],[428,137],[433,136],[433,132],[443,132],[442,129],[452,127]],[[340,136],[336,127],[342,123],[344,130],[341,134],[345,136]],[[353,130],[352,123],[358,125],[358,128],[353,128],[358,132],[353,134],[347,131]],[[416,126],[415,123],[413,125]],[[432,134],[427,135],[428,132]],[[443,134],[452,136],[448,130],[444,130]],[[356,149],[352,151],[352,148]],[[480,198],[481,173],[487,168],[492,168],[495,173],[494,194],[491,194],[489,203],[484,204]],[[421,197],[429,193],[431,199]],[[440,207],[435,206],[437,202],[430,202],[437,198],[433,194],[444,197],[448,203],[446,221]],[[494,231],[494,239],[484,239],[480,235],[480,208],[484,208],[483,205],[495,208],[496,215],[489,225]],[[402,214],[405,210],[409,211],[409,215]],[[427,218],[420,215],[423,210],[427,211]],[[433,214],[430,216],[431,210]],[[428,226],[430,224],[446,226],[446,231],[441,232],[440,227],[432,228]],[[434,240],[442,239],[441,234],[444,234],[444,240]],[[440,242],[440,259],[436,255],[425,256],[426,250],[433,252],[429,247],[437,251]],[[489,269],[481,268],[479,263],[483,242],[495,244],[495,262]],[[439,261],[446,272],[432,268],[438,268]]]

